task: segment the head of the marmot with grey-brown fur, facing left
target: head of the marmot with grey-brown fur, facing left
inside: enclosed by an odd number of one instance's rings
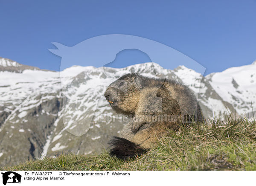
[[[126,74],[111,83],[104,96],[117,113],[134,113],[142,86],[141,76],[137,73]]]

